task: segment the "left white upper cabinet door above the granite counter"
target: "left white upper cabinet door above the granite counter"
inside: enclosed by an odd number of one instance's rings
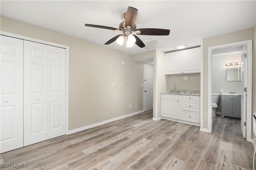
[[[182,51],[165,54],[165,74],[182,73]]]

